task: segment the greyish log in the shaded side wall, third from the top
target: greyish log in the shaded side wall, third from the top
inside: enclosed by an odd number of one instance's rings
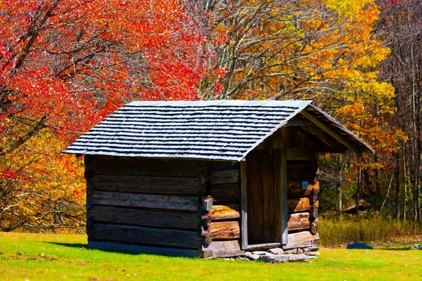
[[[93,204],[198,211],[198,197],[96,191]]]

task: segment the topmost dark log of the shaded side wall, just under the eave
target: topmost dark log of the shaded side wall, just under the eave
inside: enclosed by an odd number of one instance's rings
[[[134,158],[137,159],[137,158]],[[121,161],[94,160],[85,162],[87,174],[120,175],[120,176],[170,176],[196,178],[206,173],[206,169],[195,162],[165,162],[165,161]]]

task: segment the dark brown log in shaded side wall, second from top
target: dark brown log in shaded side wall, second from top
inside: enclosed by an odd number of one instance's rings
[[[92,176],[89,182],[95,190],[139,192],[158,195],[198,195],[198,178],[160,176]]]

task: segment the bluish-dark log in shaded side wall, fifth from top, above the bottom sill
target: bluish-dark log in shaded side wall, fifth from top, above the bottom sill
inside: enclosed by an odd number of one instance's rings
[[[181,247],[186,249],[198,248],[196,231],[94,223],[89,236],[95,241]]]

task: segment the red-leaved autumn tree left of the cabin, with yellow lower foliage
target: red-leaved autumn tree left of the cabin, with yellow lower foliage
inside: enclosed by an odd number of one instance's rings
[[[49,203],[79,164],[55,155],[77,133],[128,100],[196,98],[207,60],[196,18],[177,0],[141,2],[0,0],[0,230],[64,214]],[[60,198],[62,211],[81,203]]]

